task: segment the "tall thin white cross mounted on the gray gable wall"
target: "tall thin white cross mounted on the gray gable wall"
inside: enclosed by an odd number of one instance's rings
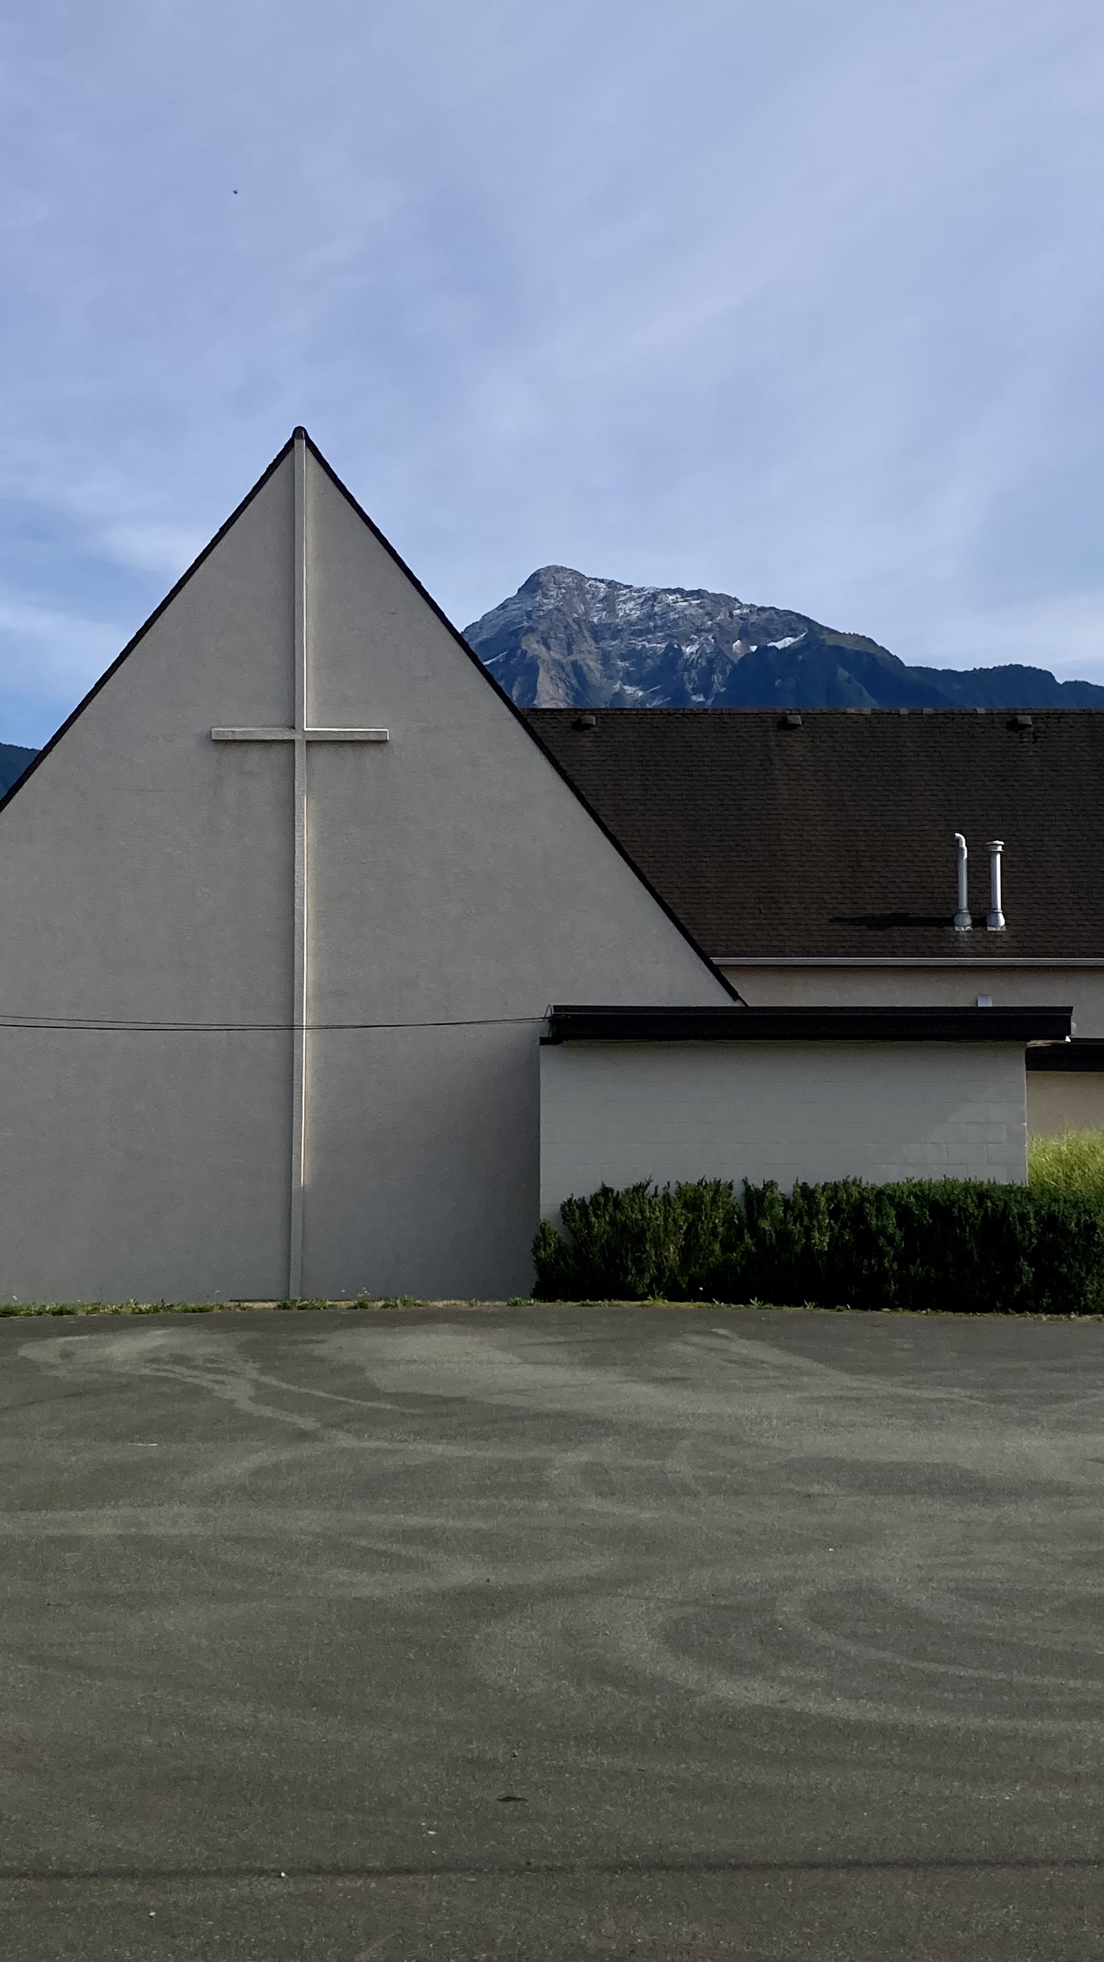
[[[287,730],[212,730],[214,742],[295,744],[295,989],[291,1058],[291,1236],[287,1293],[303,1293],[303,1189],[306,1179],[306,744],[387,742],[387,730],[322,730],[306,722],[306,430],[295,432],[295,726]]]

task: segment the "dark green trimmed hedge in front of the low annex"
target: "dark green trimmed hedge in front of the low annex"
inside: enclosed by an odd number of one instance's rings
[[[972,1179],[650,1181],[564,1201],[540,1301],[774,1301],[1006,1315],[1104,1311],[1104,1201]]]

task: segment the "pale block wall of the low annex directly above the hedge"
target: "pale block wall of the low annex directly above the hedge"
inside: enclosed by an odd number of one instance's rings
[[[1027,1177],[1023,1050],[566,1042],[540,1052],[540,1209],[635,1179]]]

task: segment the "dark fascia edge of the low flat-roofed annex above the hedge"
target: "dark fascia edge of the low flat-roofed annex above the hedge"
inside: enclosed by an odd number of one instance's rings
[[[1065,1042],[1073,1008],[605,1008],[556,1005],[542,1042]],[[1051,1052],[1033,1052],[1051,1054]]]

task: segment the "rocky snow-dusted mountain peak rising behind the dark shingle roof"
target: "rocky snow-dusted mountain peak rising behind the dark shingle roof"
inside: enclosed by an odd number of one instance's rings
[[[731,593],[544,565],[466,638],[523,708],[1104,708],[1041,667],[906,667],[864,634]]]

